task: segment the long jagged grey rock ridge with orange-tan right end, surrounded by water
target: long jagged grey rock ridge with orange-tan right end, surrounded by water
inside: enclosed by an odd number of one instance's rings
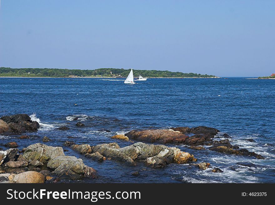
[[[182,152],[178,148],[145,143],[134,143],[124,148],[120,148],[117,143],[99,144],[93,147],[88,144],[72,145],[71,148],[85,154],[86,157],[93,157],[100,161],[108,158],[108,160],[114,159],[129,165],[136,165],[134,160],[141,160],[153,168],[162,168],[170,163],[183,164],[197,160],[193,155]]]

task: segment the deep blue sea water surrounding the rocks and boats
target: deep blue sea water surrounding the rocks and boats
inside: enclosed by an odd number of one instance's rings
[[[63,146],[66,140],[82,144],[117,142],[120,147],[130,142],[110,139],[132,129],[209,126],[227,133],[230,142],[265,157],[228,155],[209,150],[182,151],[193,154],[198,162],[208,162],[223,173],[199,170],[188,164],[171,164],[153,169],[142,162],[136,167],[113,160],[97,162],[69,149],[66,155],[82,158],[95,168],[98,179],[85,182],[111,183],[274,183],[275,182],[275,80],[246,78],[156,79],[134,85],[122,80],[99,78],[0,78],[0,116],[27,113],[41,128],[31,139],[17,135],[0,135],[0,148],[16,141],[19,148],[42,143]],[[75,105],[77,104],[77,105]],[[76,127],[77,121],[85,127]],[[70,124],[68,124],[70,123]],[[70,130],[55,130],[68,126]],[[108,129],[111,133],[98,131]],[[75,138],[68,138],[73,136]],[[248,142],[245,139],[254,139]],[[255,164],[252,167],[239,162]],[[139,171],[140,175],[131,175]]]

